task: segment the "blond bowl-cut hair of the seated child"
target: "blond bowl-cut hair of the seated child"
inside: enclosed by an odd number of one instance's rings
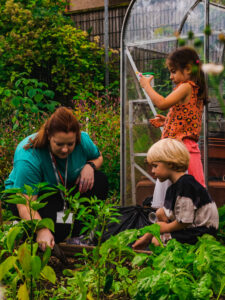
[[[148,150],[147,161],[164,162],[175,171],[186,171],[188,169],[190,154],[182,142],[175,139],[162,139],[153,144]]]

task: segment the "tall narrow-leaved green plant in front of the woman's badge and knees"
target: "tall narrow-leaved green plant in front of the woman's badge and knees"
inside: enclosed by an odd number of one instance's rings
[[[63,189],[63,187],[60,187]],[[64,189],[63,189],[64,190]],[[71,190],[68,193],[65,192],[65,197],[69,202],[69,208],[65,211],[65,221],[69,213],[73,213],[73,220],[80,220],[83,224],[83,228],[80,234],[85,233],[87,238],[95,240],[96,247],[93,249],[91,255],[87,253],[84,249],[82,254],[82,260],[85,258],[89,260],[88,268],[84,267],[81,273],[76,273],[76,283],[79,284],[79,289],[77,288],[73,291],[72,297],[78,296],[80,293],[80,299],[86,299],[87,295],[92,294],[92,289],[88,289],[86,286],[87,280],[95,276],[95,286],[96,286],[96,296],[100,299],[101,282],[105,278],[105,274],[102,272],[103,260],[100,256],[101,239],[106,226],[110,222],[118,222],[116,216],[118,216],[118,210],[115,204],[110,201],[102,201],[96,197],[89,198],[79,198],[80,193],[76,193],[74,196],[69,196]],[[83,205],[85,202],[85,205]],[[73,225],[71,226],[71,228]],[[72,230],[71,230],[72,232]],[[81,267],[80,265],[78,265]],[[83,266],[82,266],[83,268]],[[90,268],[90,269],[89,269]],[[67,270],[66,274],[73,274],[73,272]],[[91,275],[93,273],[93,276]],[[88,276],[88,277],[87,277]],[[89,276],[91,276],[89,278]],[[97,280],[96,280],[97,279]],[[71,294],[70,294],[71,297]],[[74,298],[75,299],[75,298]]]

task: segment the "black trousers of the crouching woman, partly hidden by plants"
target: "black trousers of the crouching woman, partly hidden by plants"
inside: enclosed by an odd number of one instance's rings
[[[72,186],[68,186],[68,189]],[[74,189],[73,193],[78,192],[78,186]],[[39,195],[40,196],[40,195]],[[86,193],[81,194],[81,197],[93,197],[96,196],[98,199],[105,200],[108,196],[108,180],[104,173],[101,171],[95,170],[94,173],[94,186],[91,190],[88,190]],[[47,205],[41,208],[38,212],[42,218],[50,218],[55,224],[55,242],[59,243],[64,241],[64,239],[69,235],[71,224],[56,223],[57,212],[63,209],[63,199],[60,192],[53,194],[43,200],[47,202]],[[11,204],[10,209],[12,210],[15,216],[18,216],[18,210],[16,205]],[[80,230],[82,229],[82,223],[75,221],[73,236],[78,236]]]

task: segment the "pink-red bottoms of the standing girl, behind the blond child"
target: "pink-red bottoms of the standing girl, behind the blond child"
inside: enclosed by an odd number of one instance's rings
[[[194,176],[194,178],[204,187],[205,177],[203,172],[203,166],[201,161],[201,153],[198,144],[191,139],[183,139],[182,142],[187,147],[190,153],[190,162],[188,167],[188,174]]]

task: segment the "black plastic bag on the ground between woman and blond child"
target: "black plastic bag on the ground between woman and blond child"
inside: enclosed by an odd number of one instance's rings
[[[109,223],[102,236],[102,242],[126,229],[139,229],[152,223],[149,220],[149,213],[155,212],[150,207],[127,206],[117,207],[121,216],[118,216],[119,223]]]

